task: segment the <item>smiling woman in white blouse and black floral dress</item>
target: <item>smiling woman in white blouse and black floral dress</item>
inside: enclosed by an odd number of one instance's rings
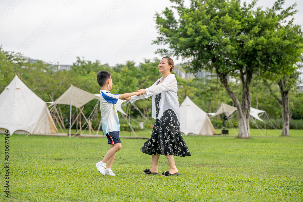
[[[178,84],[174,74],[174,61],[169,57],[161,59],[158,65],[162,77],[151,87],[138,90],[138,96],[132,96],[133,103],[137,99],[148,98],[152,95],[152,117],[156,119],[151,137],[142,146],[141,151],[151,155],[152,167],[142,174],[159,174],[158,161],[160,155],[165,155],[169,170],[162,176],[178,176],[174,156],[190,156],[189,150],[180,132],[179,101],[177,96]]]

